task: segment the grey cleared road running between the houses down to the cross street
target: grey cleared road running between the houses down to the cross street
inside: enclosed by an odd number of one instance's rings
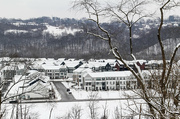
[[[72,94],[67,92],[67,88],[61,82],[53,82],[58,92],[61,94],[61,101],[75,101],[76,99]]]

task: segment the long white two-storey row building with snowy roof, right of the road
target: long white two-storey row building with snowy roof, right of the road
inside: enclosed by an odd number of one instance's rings
[[[124,90],[137,88],[137,81],[130,71],[92,72],[82,77],[85,90]]]

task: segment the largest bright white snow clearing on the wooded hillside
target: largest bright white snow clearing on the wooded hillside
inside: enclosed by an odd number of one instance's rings
[[[72,34],[81,31],[81,29],[71,29],[71,28],[60,28],[55,26],[46,25],[47,29],[44,30],[44,33],[50,33],[54,36],[62,36],[63,34]]]

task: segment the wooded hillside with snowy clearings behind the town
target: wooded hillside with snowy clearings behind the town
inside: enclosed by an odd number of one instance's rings
[[[180,42],[179,21],[179,19],[166,20],[163,26],[163,39],[168,39],[168,42],[165,42],[168,54],[171,53],[174,45]],[[128,59],[127,28],[118,22],[101,25],[112,33],[114,45],[121,49],[122,55]],[[159,52],[156,50],[158,49],[157,27],[158,20],[141,20],[133,27],[133,47],[137,56],[143,55],[142,58],[145,59],[152,56],[159,58]],[[88,35],[87,30],[100,33],[97,26],[86,19],[3,18],[0,19],[0,56],[112,58],[107,42]]]

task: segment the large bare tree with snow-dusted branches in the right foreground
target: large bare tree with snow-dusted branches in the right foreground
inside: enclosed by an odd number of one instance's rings
[[[122,0],[116,6],[112,6],[110,4],[104,6],[98,3],[97,0],[79,0],[75,1],[74,7],[82,8],[83,10],[85,9],[89,14],[89,20],[94,21],[99,30],[102,32],[101,34],[98,34],[96,32],[87,31],[87,33],[96,36],[104,41],[107,41],[110,47],[110,51],[112,52],[114,57],[117,60],[121,61],[135,76],[140,88],[140,90],[138,90],[136,93],[146,102],[149,110],[148,116],[150,118],[157,119],[176,119],[180,117],[179,100],[177,99],[180,93],[180,79],[175,79],[172,77],[175,75],[172,67],[174,64],[176,53],[180,48],[180,43],[175,47],[172,53],[172,57],[170,58],[170,62],[167,63],[165,48],[161,37],[161,30],[164,23],[164,11],[179,6],[180,2],[178,0],[155,0],[155,2],[160,4],[160,24],[157,32],[157,39],[161,48],[163,65],[159,73],[154,71],[153,75],[150,76],[152,81],[154,81],[153,85],[155,85],[153,88],[147,88],[147,84],[142,75],[142,71],[136,63],[134,64],[136,70],[132,69],[126,63],[122,55],[119,53],[117,46],[113,44],[113,38],[111,37],[112,34],[110,34],[108,30],[101,26],[102,18],[113,18],[118,20],[120,23],[124,23],[129,29],[130,56],[132,57],[132,60],[137,62],[136,57],[133,54],[132,27],[142,17],[147,16],[142,15],[141,10],[139,10],[140,8],[143,8],[142,5],[144,5],[145,1]],[[125,9],[123,7],[125,7]],[[135,16],[137,16],[136,20],[134,20]],[[175,82],[177,82],[176,86],[169,87],[169,84],[172,83],[172,81],[174,82],[174,80],[176,80]],[[157,97],[155,98],[154,96]],[[138,113],[143,113],[142,109],[139,109],[139,111],[140,112]]]

